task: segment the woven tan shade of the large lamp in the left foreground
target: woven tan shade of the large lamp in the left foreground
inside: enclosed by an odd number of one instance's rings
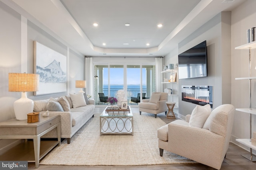
[[[9,92],[38,91],[39,74],[9,73]]]

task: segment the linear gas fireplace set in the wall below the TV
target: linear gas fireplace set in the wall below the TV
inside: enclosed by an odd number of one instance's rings
[[[212,108],[212,86],[182,86],[181,92],[183,101]]]

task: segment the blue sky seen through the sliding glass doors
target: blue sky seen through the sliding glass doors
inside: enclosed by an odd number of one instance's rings
[[[108,68],[103,69],[103,84],[108,84]],[[124,84],[124,68],[110,68],[110,84]],[[140,68],[127,68],[127,84],[140,84]],[[142,68],[142,84],[146,84],[146,68]]]

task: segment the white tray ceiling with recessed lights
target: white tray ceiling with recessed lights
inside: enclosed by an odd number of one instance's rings
[[[86,56],[164,56],[244,0],[1,0]],[[98,23],[98,27],[92,24]],[[125,26],[130,23],[130,26]],[[163,27],[158,28],[157,24]],[[106,45],[102,45],[106,43]],[[123,45],[129,43],[129,45]],[[150,43],[150,45],[146,45]]]

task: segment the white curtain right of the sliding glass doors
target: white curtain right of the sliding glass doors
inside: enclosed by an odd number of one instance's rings
[[[163,86],[161,82],[163,81],[162,79],[162,69],[163,69],[163,64],[162,64],[162,57],[156,57],[156,92],[163,92]]]

